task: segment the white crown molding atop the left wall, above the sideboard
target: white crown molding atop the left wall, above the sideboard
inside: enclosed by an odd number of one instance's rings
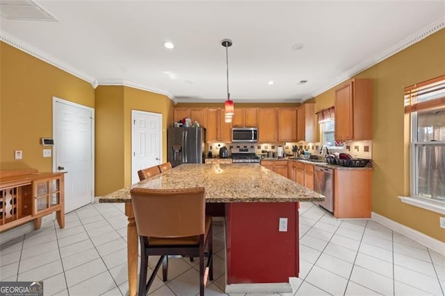
[[[34,58],[38,58],[39,60],[42,60],[45,63],[48,63],[49,65],[52,65],[54,67],[57,67],[58,69],[63,70],[64,72],[72,74],[77,78],[82,79],[83,81],[86,81],[88,83],[92,83],[92,81],[94,81],[94,78],[92,76],[89,76],[79,71],[78,69],[74,69],[70,65],[67,65],[66,63],[63,63],[60,60],[57,60],[56,58],[49,55],[47,52],[41,51],[40,49],[36,49],[31,44],[28,44],[23,40],[17,40],[16,38],[13,38],[8,33],[1,32],[0,40],[5,42],[6,44],[9,44],[12,47],[15,47],[16,49],[26,52],[26,54],[29,54]]]

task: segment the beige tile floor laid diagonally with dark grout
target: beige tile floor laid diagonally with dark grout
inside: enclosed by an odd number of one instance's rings
[[[0,281],[42,280],[45,295],[127,295],[123,211],[123,204],[92,204],[68,214],[65,229],[48,223],[4,243]],[[206,295],[225,295],[223,222],[214,223],[213,236]],[[197,262],[169,263],[169,280],[158,276],[150,295],[197,295]],[[444,295],[445,256],[370,220],[335,220],[302,203],[300,277],[291,284],[293,293],[282,295]]]

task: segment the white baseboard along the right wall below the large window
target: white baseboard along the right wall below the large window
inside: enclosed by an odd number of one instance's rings
[[[403,236],[406,236],[407,238],[419,242],[419,244],[428,247],[428,249],[432,249],[435,252],[445,256],[445,242],[436,240],[435,238],[427,236],[426,234],[421,233],[420,231],[416,231],[410,227],[406,227],[405,225],[390,220],[387,217],[379,215],[378,213],[372,212],[371,220],[379,224],[382,224],[383,226],[388,227],[393,231],[401,233],[403,234]]]

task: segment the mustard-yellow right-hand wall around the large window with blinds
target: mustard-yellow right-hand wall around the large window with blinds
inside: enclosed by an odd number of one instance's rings
[[[373,79],[373,212],[445,242],[439,214],[403,204],[410,195],[409,117],[403,88],[445,74],[445,29],[354,78]],[[334,105],[334,88],[315,98],[316,110]]]

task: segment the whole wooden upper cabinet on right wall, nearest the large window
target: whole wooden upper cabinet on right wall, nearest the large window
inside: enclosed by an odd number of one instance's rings
[[[352,79],[335,90],[335,140],[372,140],[372,79]]]

